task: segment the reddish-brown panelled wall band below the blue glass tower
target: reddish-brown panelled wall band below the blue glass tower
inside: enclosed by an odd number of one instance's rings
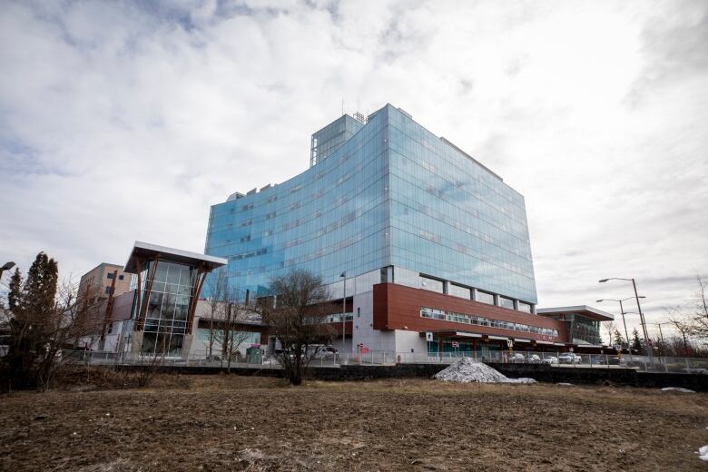
[[[485,326],[467,325],[453,321],[430,320],[420,316],[420,308],[456,311],[466,315],[483,316],[495,320],[523,323],[540,328],[557,329],[558,338],[549,339],[541,334],[498,329]],[[478,301],[465,300],[450,295],[443,295],[430,290],[413,289],[393,283],[374,285],[374,329],[408,329],[411,331],[431,331],[457,329],[480,334],[508,336],[525,339],[538,339],[561,342],[565,340],[563,323],[556,320],[495,307]]]

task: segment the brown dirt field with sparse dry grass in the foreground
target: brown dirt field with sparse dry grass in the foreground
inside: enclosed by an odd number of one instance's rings
[[[2,470],[708,470],[708,394],[227,376],[0,398]]]

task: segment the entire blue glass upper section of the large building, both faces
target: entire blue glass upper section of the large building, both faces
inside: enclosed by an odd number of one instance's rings
[[[312,140],[307,171],[211,207],[205,253],[229,260],[231,287],[393,266],[394,282],[402,268],[536,303],[524,198],[479,162],[391,105]]]

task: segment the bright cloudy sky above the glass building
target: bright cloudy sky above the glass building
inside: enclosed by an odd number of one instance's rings
[[[0,263],[203,251],[209,207],[393,103],[526,196],[540,306],[708,277],[708,2],[0,2]],[[629,315],[630,324],[636,317]]]

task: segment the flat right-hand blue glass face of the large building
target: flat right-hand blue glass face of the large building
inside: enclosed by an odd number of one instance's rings
[[[536,303],[524,197],[388,106],[391,264]]]

